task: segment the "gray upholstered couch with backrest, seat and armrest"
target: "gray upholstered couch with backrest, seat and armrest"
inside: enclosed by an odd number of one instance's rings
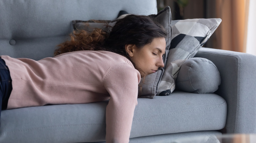
[[[156,0],[1,0],[0,55],[52,57],[72,32],[72,20],[113,20],[120,10],[156,14]],[[256,56],[201,48],[196,57],[220,71],[214,93],[175,90],[139,98],[130,142],[171,142],[198,135],[256,133]],[[108,102],[46,105],[1,112],[1,143],[104,142]]]

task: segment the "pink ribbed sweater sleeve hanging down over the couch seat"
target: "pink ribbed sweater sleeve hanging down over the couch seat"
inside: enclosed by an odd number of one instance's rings
[[[106,74],[103,83],[110,94],[106,108],[106,143],[128,143],[140,74],[133,66],[121,64]]]

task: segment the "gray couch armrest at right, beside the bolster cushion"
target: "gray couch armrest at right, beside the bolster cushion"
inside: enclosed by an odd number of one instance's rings
[[[226,133],[256,133],[256,56],[201,48],[195,57],[211,60],[220,71],[216,94],[227,102]]]

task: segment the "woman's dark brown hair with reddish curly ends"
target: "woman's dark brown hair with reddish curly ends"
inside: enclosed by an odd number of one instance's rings
[[[125,51],[126,44],[135,44],[138,48],[151,43],[154,38],[166,37],[161,24],[152,17],[144,15],[127,15],[117,20],[110,33],[95,28],[92,32],[75,30],[71,40],[57,45],[54,55],[84,50],[103,50],[130,57]],[[131,61],[131,60],[130,60]]]

